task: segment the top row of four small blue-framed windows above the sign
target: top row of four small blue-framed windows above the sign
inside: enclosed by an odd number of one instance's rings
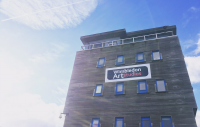
[[[161,59],[161,53],[160,51],[153,51],[152,52],[152,60],[160,60]],[[144,62],[145,58],[144,58],[144,53],[137,53],[137,62]],[[120,55],[117,56],[117,60],[116,60],[116,65],[121,65],[124,64],[124,56]],[[103,67],[105,65],[105,58],[99,58],[99,61],[97,63],[97,67]]]

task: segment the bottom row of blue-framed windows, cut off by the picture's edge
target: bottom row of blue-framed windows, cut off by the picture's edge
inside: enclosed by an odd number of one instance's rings
[[[125,127],[124,118],[115,118],[115,127]],[[151,127],[152,123],[150,117],[142,117],[140,127]],[[101,127],[100,119],[95,118],[92,120],[91,127]],[[173,127],[172,119],[170,116],[161,116],[161,127]]]

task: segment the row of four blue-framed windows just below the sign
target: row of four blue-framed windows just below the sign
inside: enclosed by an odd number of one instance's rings
[[[167,87],[164,79],[157,79],[155,88],[156,92],[166,92]],[[96,85],[94,96],[101,96],[103,91],[103,84]],[[138,81],[138,93],[147,93],[147,82]],[[115,94],[125,94],[124,82],[116,83]]]

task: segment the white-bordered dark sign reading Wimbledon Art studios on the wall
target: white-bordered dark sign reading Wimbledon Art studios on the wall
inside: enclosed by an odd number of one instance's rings
[[[118,82],[151,78],[150,64],[106,68],[105,82]]]

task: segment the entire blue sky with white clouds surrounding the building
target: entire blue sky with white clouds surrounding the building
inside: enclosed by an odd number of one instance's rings
[[[0,0],[0,126],[62,126],[80,37],[123,28],[176,25],[200,105],[199,22],[199,0]]]

